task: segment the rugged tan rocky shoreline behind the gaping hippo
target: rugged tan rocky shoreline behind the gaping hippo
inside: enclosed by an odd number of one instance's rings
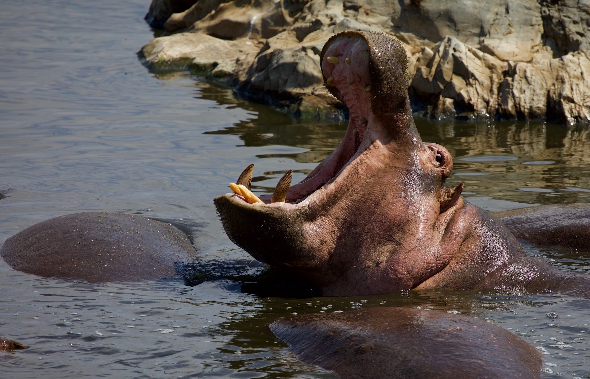
[[[294,117],[348,117],[319,54],[352,29],[404,44],[424,116],[590,122],[588,1],[152,0],[146,21],[164,29],[138,53],[150,70],[190,70]]]

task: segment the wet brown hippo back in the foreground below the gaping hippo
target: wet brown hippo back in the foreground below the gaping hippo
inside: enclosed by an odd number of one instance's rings
[[[464,315],[377,307],[281,318],[269,327],[299,360],[342,378],[539,378],[535,348]]]

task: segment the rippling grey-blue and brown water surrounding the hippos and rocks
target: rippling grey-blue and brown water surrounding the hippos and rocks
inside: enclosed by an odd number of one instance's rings
[[[2,4],[0,241],[53,216],[127,212],[188,230],[200,261],[260,270],[225,236],[213,197],[250,163],[254,192],[270,192],[289,169],[301,180],[345,126],[291,120],[186,73],[148,72],[135,55],[153,37],[142,19],[148,6]],[[588,127],[417,123],[424,140],[453,155],[448,184],[465,182],[466,197],[488,210],[590,200]],[[590,269],[587,253],[525,248],[565,270]],[[229,279],[88,284],[15,272],[4,262],[0,291],[0,335],[31,347],[0,353],[2,378],[330,378],[297,361],[267,325],[293,313],[379,305],[487,319],[549,353],[543,377],[590,373],[588,300],[568,294],[286,299],[246,294]]]

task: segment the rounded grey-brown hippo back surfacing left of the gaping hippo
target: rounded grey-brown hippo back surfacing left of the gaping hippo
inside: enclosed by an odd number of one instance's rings
[[[186,236],[145,217],[84,212],[54,217],[6,239],[4,261],[46,278],[136,282],[178,276],[176,262],[194,260]]]

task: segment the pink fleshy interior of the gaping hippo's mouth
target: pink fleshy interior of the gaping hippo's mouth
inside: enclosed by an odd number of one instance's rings
[[[337,57],[339,62],[332,64],[328,57]],[[347,63],[347,58],[350,64]],[[371,111],[371,76],[369,74],[369,45],[364,39],[339,37],[335,39],[324,54],[323,74],[327,78],[326,87],[333,85],[340,91],[340,99],[350,110],[350,121],[344,139],[330,154],[299,184],[294,184],[287,192],[287,202],[296,202],[311,195],[337,176],[357,153],[365,137],[365,132],[373,120]],[[333,78],[333,80],[330,80]],[[270,202],[269,196],[261,200]]]

